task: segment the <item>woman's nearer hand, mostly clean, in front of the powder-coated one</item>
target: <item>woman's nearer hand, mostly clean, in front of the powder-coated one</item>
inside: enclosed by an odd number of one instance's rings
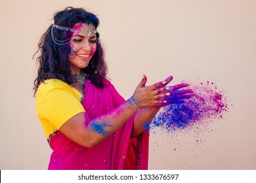
[[[159,99],[169,95],[168,92],[163,93],[166,90],[169,90],[168,87],[163,86],[166,86],[169,82],[171,82],[172,79],[173,76],[169,76],[164,81],[157,82],[151,86],[145,86],[147,78],[145,75],[143,75],[143,78],[137,86],[131,99],[138,108],[152,107],[154,105],[166,103],[166,101]]]

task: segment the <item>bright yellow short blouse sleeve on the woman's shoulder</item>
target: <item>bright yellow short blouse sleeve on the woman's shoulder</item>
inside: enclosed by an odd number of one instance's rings
[[[60,80],[46,80],[39,86],[35,97],[36,112],[47,138],[75,114],[85,112],[81,97],[75,88]]]

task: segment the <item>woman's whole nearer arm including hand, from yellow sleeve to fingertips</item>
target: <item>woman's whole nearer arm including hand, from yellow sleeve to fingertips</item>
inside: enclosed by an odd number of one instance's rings
[[[160,87],[165,84],[165,82],[158,82],[152,86],[146,87],[145,84],[146,78],[143,77],[133,94],[137,106],[140,108],[147,108],[164,103],[164,101],[158,99],[166,95],[165,93],[162,93],[165,91],[165,88]],[[125,124],[135,112],[137,112],[137,108],[130,100],[127,100],[111,112],[108,112],[93,121],[86,118],[85,116],[87,115],[85,115],[84,112],[81,112],[65,122],[60,127],[60,131],[77,144],[81,144],[85,147],[92,147],[117,131],[117,129]]]

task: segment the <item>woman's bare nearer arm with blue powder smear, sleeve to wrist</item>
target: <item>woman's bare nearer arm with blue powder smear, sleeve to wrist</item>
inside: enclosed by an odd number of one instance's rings
[[[85,113],[81,112],[64,123],[60,127],[60,131],[77,144],[90,148],[114,133],[136,111],[137,108],[126,101],[111,112],[94,120],[85,118]]]

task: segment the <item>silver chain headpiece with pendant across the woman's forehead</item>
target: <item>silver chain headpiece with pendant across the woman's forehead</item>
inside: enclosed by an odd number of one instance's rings
[[[95,35],[97,33],[97,31],[94,27],[92,29],[89,29],[89,25],[88,24],[86,24],[86,25],[87,26],[85,29],[83,29],[83,31],[87,37],[89,37],[89,35],[91,35],[91,33],[93,33],[93,35]],[[53,24],[51,27],[51,37],[53,39],[53,42],[55,42],[58,45],[68,44],[70,42],[70,40],[72,39],[72,37],[70,37],[69,39],[65,39],[65,40],[58,40],[58,39],[56,39],[56,37],[54,37],[53,28],[58,29],[59,31],[71,31],[72,33],[79,33],[81,31],[80,29],[72,29],[69,27],[62,27],[60,25]],[[98,42],[97,38],[96,38],[96,42]]]

